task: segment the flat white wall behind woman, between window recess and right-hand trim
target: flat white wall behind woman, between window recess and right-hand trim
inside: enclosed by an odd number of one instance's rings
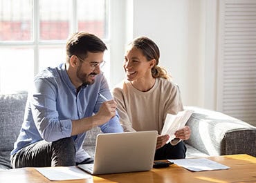
[[[134,1],[134,37],[156,41],[160,64],[179,84],[184,105],[203,105],[201,14],[201,1]]]

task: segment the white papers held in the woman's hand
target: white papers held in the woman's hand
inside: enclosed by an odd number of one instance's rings
[[[175,138],[174,133],[185,126],[192,113],[193,110],[183,110],[176,115],[166,115],[165,124],[163,125],[161,132],[161,135],[170,135],[170,139],[166,142],[166,144]]]

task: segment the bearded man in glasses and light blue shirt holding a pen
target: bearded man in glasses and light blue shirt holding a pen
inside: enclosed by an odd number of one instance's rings
[[[100,72],[104,50],[107,47],[98,37],[77,32],[67,41],[66,63],[35,77],[11,152],[13,168],[91,163],[82,149],[86,131],[95,126],[103,133],[123,131],[116,102]],[[104,102],[98,93],[111,100]]]

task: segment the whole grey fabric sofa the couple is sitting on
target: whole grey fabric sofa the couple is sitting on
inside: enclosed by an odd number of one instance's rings
[[[10,151],[19,135],[24,118],[27,99],[26,91],[0,94],[0,171],[10,166]],[[191,137],[185,144],[186,157],[206,157],[246,153],[256,157],[256,128],[223,113],[194,106],[187,125]],[[86,133],[83,148],[94,156],[96,135],[102,133],[95,127]]]

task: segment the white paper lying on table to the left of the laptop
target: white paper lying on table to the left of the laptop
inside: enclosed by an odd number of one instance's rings
[[[91,182],[93,182],[93,177],[91,175],[75,166],[55,166],[35,169],[44,175],[44,177],[48,178],[48,180],[91,179]]]

